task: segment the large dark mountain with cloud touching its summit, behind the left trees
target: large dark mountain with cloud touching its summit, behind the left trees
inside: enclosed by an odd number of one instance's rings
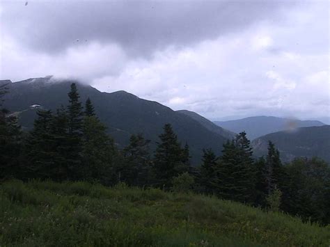
[[[182,145],[189,144],[191,162],[199,164],[203,148],[212,148],[220,154],[225,136],[214,134],[188,115],[178,113],[157,102],[140,99],[125,91],[101,93],[97,89],[77,81],[81,102],[90,97],[97,115],[104,122],[109,134],[120,148],[127,145],[131,134],[142,133],[152,141],[150,148],[155,149],[159,134],[166,123],[173,125]],[[1,82],[0,82],[1,83]],[[8,83],[9,93],[4,97],[4,106],[19,113],[19,121],[25,129],[33,127],[36,107],[57,109],[68,104],[68,91],[72,81],[56,81],[51,77],[34,78]]]

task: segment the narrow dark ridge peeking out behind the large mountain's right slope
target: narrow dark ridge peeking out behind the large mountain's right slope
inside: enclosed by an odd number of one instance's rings
[[[204,118],[201,115],[198,115],[196,112],[194,111],[187,111],[187,110],[180,110],[180,111],[176,111],[178,113],[182,113],[184,115],[188,115],[190,118],[193,118],[194,120],[196,120],[197,122],[201,123],[201,125],[203,125],[206,129],[210,130],[211,132],[214,132],[216,134],[219,134],[221,136],[224,136],[228,139],[233,139],[236,136],[236,133],[234,132],[230,132],[227,129],[223,129],[222,127],[215,125],[214,122],[211,122],[210,120],[208,120],[207,118]]]

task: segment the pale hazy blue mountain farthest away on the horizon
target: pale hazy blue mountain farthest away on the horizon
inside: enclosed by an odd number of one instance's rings
[[[288,129],[324,125],[323,122],[317,120],[292,120],[289,118],[266,116],[242,118],[229,121],[214,121],[214,123],[224,129],[230,130],[231,132],[239,133],[245,131],[250,140],[266,134],[281,132]]]

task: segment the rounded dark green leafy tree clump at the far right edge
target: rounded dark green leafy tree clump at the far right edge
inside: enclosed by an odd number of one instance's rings
[[[304,220],[330,223],[330,167],[320,159],[295,159],[285,167],[285,211]]]

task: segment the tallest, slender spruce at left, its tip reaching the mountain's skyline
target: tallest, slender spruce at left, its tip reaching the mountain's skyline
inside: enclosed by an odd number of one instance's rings
[[[79,93],[75,83],[71,84],[71,90],[68,93],[68,143],[70,146],[69,177],[72,180],[81,180],[81,151],[82,151],[82,128],[83,115]]]

